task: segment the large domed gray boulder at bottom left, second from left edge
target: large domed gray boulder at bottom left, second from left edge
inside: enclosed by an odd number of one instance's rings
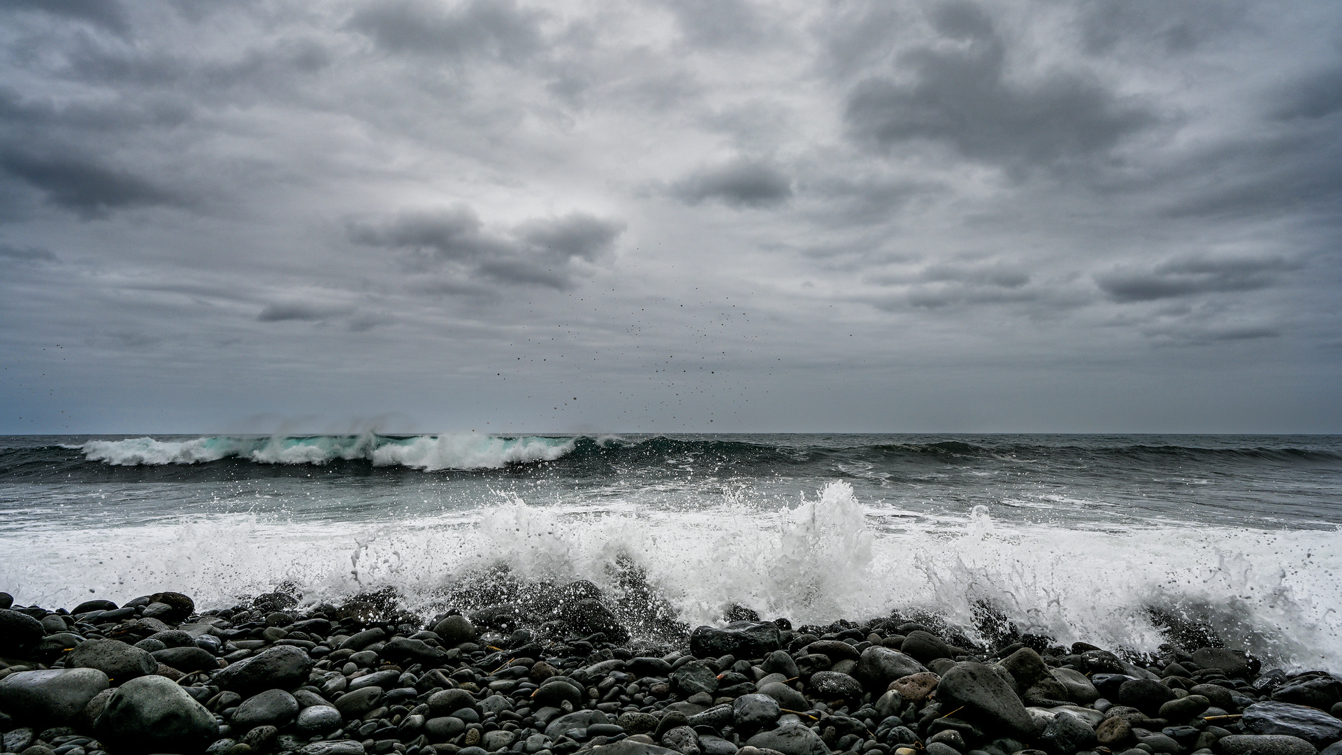
[[[122,684],[98,719],[98,739],[134,752],[197,752],[219,736],[215,716],[161,676]]]

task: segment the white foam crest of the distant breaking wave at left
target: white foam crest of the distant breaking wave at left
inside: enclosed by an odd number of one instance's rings
[[[510,463],[554,461],[573,450],[574,438],[499,438],[476,433],[419,435],[409,439],[364,435],[311,438],[196,438],[192,441],[89,441],[79,449],[89,461],[113,466],[205,463],[246,458],[258,463],[313,463],[368,459],[377,466],[423,470],[502,469]]]

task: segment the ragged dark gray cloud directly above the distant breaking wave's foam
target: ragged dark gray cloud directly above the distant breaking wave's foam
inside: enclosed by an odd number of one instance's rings
[[[349,224],[352,240],[408,254],[405,263],[415,273],[450,267],[458,279],[444,293],[470,290],[471,282],[483,279],[566,289],[580,271],[577,263],[600,262],[621,232],[623,223],[585,212],[533,218],[495,231],[466,204]]]

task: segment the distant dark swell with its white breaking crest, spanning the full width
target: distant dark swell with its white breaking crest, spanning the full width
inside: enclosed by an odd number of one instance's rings
[[[1150,437],[1142,437],[1149,439]],[[1033,438],[1031,438],[1033,439]],[[1253,465],[1329,466],[1342,453],[1319,443],[1206,445],[1131,442],[1131,437],[548,437],[305,435],[123,438],[82,445],[0,449],[0,480],[12,482],[215,481],[258,477],[397,477],[421,473],[517,474],[538,468],[580,477],[686,469],[701,474],[777,474],[812,468],[833,474],[859,465],[1045,463],[1090,470]],[[1182,441],[1184,438],[1181,438]],[[1245,438],[1248,439],[1248,438]],[[1291,438],[1296,441],[1298,438]],[[35,439],[36,441],[36,439]],[[1252,441],[1271,441],[1252,438]],[[1286,438],[1283,438],[1286,441]]]

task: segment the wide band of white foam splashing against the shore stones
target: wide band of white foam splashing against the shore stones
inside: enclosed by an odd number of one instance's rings
[[[683,510],[628,498],[603,508],[507,497],[381,527],[197,516],[15,533],[15,547],[0,555],[0,583],[20,603],[67,607],[165,588],[209,607],[285,580],[307,601],[392,584],[412,609],[429,611],[440,587],[494,562],[609,588],[623,555],[691,625],[717,621],[730,603],[798,623],[922,607],[968,625],[985,601],[1023,631],[1153,650],[1165,641],[1145,611],[1155,606],[1201,615],[1231,646],[1270,662],[1342,670],[1335,531],[1079,531],[997,521],[986,506],[954,525],[918,519],[876,531],[872,521],[841,482],[782,509],[730,496]]]

